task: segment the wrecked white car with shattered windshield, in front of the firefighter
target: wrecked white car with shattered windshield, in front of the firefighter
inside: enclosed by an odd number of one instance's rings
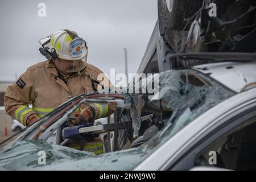
[[[236,57],[172,57],[188,63],[187,68],[160,73],[154,100],[143,93],[93,92],[72,98],[3,148],[0,169],[255,170],[256,57]],[[191,60],[207,64],[189,68]],[[94,102],[114,103],[108,124],[67,127],[77,107]],[[55,130],[57,143],[47,143]],[[104,139],[104,154],[65,146],[69,140],[86,143],[98,135]],[[38,163],[40,151],[46,165]]]

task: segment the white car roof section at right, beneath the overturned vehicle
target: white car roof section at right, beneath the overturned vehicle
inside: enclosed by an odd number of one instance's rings
[[[255,62],[211,63],[197,65],[192,69],[209,75],[237,93],[256,86]]]

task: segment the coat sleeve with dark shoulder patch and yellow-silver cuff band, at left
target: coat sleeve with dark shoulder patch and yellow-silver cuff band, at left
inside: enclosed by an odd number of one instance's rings
[[[35,111],[28,107],[35,95],[33,84],[34,76],[32,70],[27,69],[16,82],[8,86],[5,92],[5,110],[11,117],[26,126],[27,118]]]

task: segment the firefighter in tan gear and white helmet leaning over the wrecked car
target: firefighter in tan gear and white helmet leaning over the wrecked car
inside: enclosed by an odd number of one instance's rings
[[[29,67],[5,93],[6,113],[24,126],[35,123],[73,96],[93,92],[102,81],[97,77],[103,72],[86,63],[88,47],[75,31],[60,30],[40,39],[39,43],[43,47],[40,52],[48,60]],[[103,80],[103,85],[111,85],[108,78]],[[31,109],[29,103],[32,103]],[[69,121],[69,126],[81,125],[84,118],[94,121],[108,114],[106,104],[86,105],[75,114],[77,119]],[[92,146],[99,148],[102,141]]]

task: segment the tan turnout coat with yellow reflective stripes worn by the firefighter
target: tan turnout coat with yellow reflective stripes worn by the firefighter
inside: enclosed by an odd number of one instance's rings
[[[86,63],[84,71],[70,77],[65,84],[61,78],[57,77],[57,70],[52,61],[47,60],[32,65],[18,78],[18,81],[7,88],[6,113],[26,125],[27,118],[31,114],[43,117],[69,98],[93,92],[88,75],[97,80],[100,73],[103,73],[100,69]],[[101,82],[101,80],[97,81]],[[29,102],[32,102],[32,109],[28,108]]]

